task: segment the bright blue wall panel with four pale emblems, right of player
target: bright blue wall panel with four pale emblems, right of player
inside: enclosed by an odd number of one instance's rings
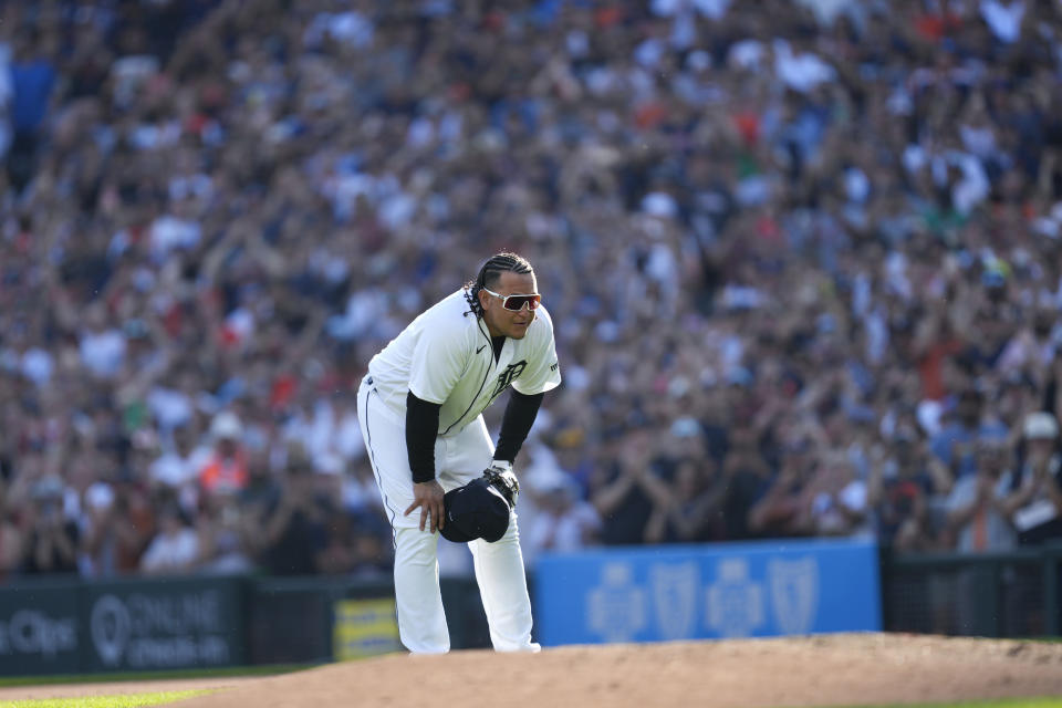
[[[544,555],[535,576],[544,645],[882,628],[873,541],[597,549]]]

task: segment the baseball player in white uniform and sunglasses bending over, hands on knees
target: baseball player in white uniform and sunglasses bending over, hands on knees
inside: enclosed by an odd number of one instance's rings
[[[368,363],[358,418],[394,529],[398,632],[412,653],[450,648],[436,558],[444,493],[485,471],[514,483],[513,459],[560,383],[553,323],[514,253],[488,259]],[[496,448],[480,414],[510,388]],[[494,649],[538,652],[516,511],[501,539],[468,545]]]

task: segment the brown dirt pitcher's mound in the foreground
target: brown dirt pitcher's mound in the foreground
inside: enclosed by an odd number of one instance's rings
[[[888,634],[391,655],[181,708],[826,706],[1062,696],[1062,645]]]

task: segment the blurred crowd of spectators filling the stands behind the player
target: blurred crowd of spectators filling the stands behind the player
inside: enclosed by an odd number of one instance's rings
[[[0,577],[386,573],[353,392],[502,249],[529,563],[1062,537],[1062,3],[636,4],[3,3]]]

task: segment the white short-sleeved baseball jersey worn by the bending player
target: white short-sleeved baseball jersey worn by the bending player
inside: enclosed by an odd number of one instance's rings
[[[368,363],[385,405],[405,417],[406,395],[441,404],[439,435],[456,435],[510,385],[521,394],[561,383],[553,321],[541,304],[522,340],[506,339],[498,361],[487,325],[465,290],[426,310]],[[466,314],[468,313],[468,314]]]

